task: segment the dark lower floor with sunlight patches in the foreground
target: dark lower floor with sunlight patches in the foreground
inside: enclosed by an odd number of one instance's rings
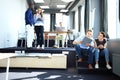
[[[0,80],[5,80],[6,68],[0,69]],[[69,69],[28,69],[10,68],[9,80],[120,80],[113,73],[80,74],[75,68]]]

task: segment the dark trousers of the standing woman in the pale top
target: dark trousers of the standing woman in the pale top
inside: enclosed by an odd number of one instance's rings
[[[44,27],[43,26],[35,26],[35,33],[37,36],[37,46],[44,44]]]

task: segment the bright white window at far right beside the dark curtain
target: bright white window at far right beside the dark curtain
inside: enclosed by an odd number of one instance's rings
[[[110,39],[117,37],[117,0],[108,1],[108,34]],[[112,6],[111,6],[112,5]]]

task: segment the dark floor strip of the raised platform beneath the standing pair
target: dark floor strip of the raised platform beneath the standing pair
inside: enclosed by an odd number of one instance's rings
[[[13,53],[15,51],[25,51],[25,53],[62,53],[63,51],[75,51],[74,48],[53,48],[45,47],[44,49],[25,48],[25,47],[9,47],[9,48],[0,48],[1,53]]]

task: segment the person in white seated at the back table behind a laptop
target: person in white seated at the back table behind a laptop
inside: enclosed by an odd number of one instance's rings
[[[59,27],[55,28],[55,31],[57,32],[63,32],[65,31],[65,27],[62,26],[62,22],[59,23]],[[64,47],[64,42],[65,42],[65,35],[64,34],[57,34],[55,37],[55,45],[54,47],[59,47],[60,40],[62,40],[62,47]]]

